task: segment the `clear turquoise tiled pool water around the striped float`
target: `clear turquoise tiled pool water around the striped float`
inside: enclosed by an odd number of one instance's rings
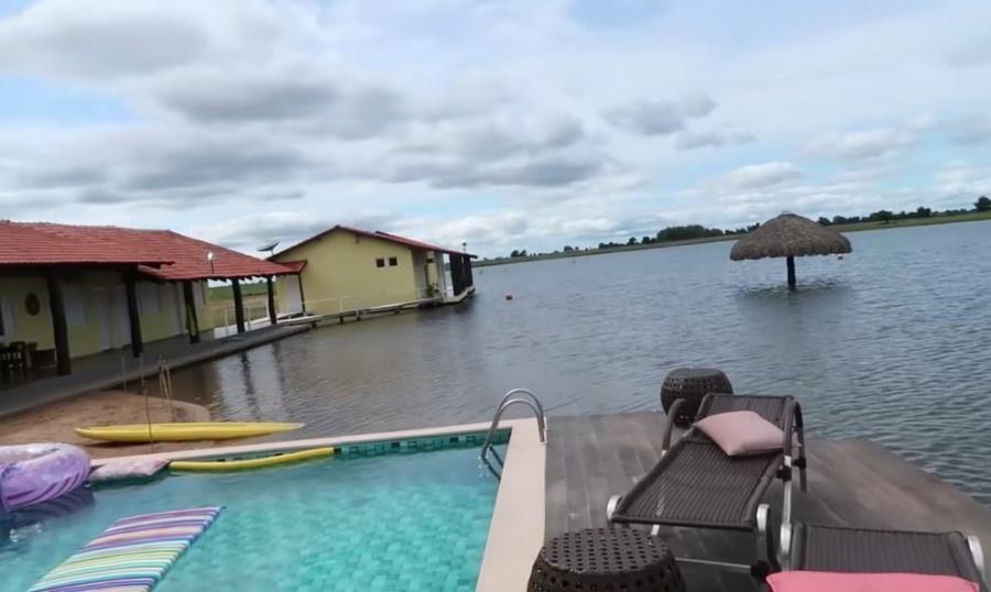
[[[117,518],[222,505],[156,591],[473,591],[497,487],[464,448],[84,492],[65,516],[0,527],[0,590],[26,590]]]

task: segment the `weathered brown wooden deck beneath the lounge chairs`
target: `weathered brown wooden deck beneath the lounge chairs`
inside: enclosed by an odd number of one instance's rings
[[[664,416],[657,413],[552,417],[546,460],[545,537],[606,524],[606,504],[625,493],[660,457]],[[961,530],[991,550],[991,508],[867,440],[815,440],[808,446],[808,493],[795,487],[794,518],[816,524]],[[780,507],[780,489],[767,494]],[[750,562],[747,536],[672,528],[662,531],[684,557]],[[747,575],[683,568],[689,592],[748,592]]]

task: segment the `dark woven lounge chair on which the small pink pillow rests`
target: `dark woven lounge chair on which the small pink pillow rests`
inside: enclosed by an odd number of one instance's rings
[[[682,401],[677,401],[668,409],[661,460],[627,495],[617,495],[609,501],[607,517],[610,523],[620,525],[752,533],[756,545],[754,563],[680,557],[678,561],[750,571],[763,577],[780,566],[767,533],[771,506],[762,503],[764,494],[775,479],[782,481],[782,533],[785,528],[789,533],[793,467],[799,469],[799,485],[806,491],[802,409],[791,396],[706,395],[696,421],[720,413],[751,410],[784,431],[781,452],[731,458],[694,427],[671,447],[673,418],[677,417],[680,404]],[[793,441],[793,435],[797,436],[797,441]]]

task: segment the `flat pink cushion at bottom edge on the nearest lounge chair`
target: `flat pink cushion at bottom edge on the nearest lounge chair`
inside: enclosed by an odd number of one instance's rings
[[[773,592],[978,592],[955,575],[922,573],[827,573],[785,571],[767,577]]]

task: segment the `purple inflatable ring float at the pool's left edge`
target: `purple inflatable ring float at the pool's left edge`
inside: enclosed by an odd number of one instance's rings
[[[75,490],[89,475],[89,456],[64,443],[0,446],[0,513]]]

